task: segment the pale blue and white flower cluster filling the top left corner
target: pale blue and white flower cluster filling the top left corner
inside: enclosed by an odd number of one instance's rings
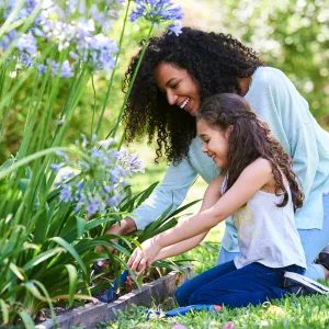
[[[5,20],[18,5],[19,0],[9,0],[3,11]],[[104,5],[103,11],[99,10],[100,2]],[[114,41],[105,36],[114,20],[117,19],[117,10],[123,5],[124,0],[93,1],[88,7],[86,0],[25,0],[23,8],[19,11],[15,20],[26,19],[36,8],[41,5],[41,13],[33,22],[26,34],[19,34],[15,30],[10,31],[0,39],[0,48],[5,50],[11,43],[15,43],[19,49],[19,59],[22,65],[31,67],[37,60],[38,43],[55,43],[58,49],[70,47],[72,64],[65,61],[61,71],[60,65],[56,61],[45,61],[37,65],[38,73],[46,71],[50,65],[52,72],[60,77],[71,77],[72,68],[77,60],[89,61],[97,72],[114,68],[114,54],[117,47]],[[1,23],[1,18],[0,18]],[[98,33],[97,33],[98,32]],[[1,49],[0,49],[1,52]]]

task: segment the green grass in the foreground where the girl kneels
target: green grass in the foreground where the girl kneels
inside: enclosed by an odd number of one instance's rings
[[[219,229],[217,229],[219,230]],[[211,234],[206,240],[211,241],[217,238],[217,232]],[[208,269],[216,261],[217,251],[209,247],[197,247],[191,250],[184,257],[196,260],[195,274]],[[322,282],[324,283],[324,282]],[[172,306],[172,304],[171,304]],[[156,306],[166,310],[168,302]],[[126,313],[121,313],[115,322],[102,324],[102,328],[172,328],[174,325],[183,325],[185,328],[329,328],[329,298],[328,296],[306,296],[285,298],[272,302],[266,306],[249,306],[229,310],[223,308],[217,314],[206,311],[191,313],[184,317],[151,319],[146,321],[145,314],[140,307],[132,307]],[[232,326],[230,325],[232,324]],[[184,329],[184,327],[173,327],[174,329]]]

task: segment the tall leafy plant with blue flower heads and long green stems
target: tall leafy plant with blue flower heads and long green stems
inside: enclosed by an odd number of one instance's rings
[[[0,168],[3,325],[31,328],[45,306],[56,320],[54,303],[63,300],[70,306],[75,300],[95,300],[92,291],[97,276],[91,265],[111,258],[109,274],[114,276],[138,246],[136,237],[104,235],[105,229],[151,191],[131,195],[124,181],[129,172],[140,170],[140,163],[135,155],[120,150],[120,143],[109,138],[97,143],[95,134],[110,100],[131,4],[135,5],[131,20],[149,22],[147,41],[154,24],[181,20],[182,13],[163,0],[79,3],[83,5],[50,0],[0,4],[1,138],[14,117],[11,112],[20,116],[23,109],[25,121],[18,152]],[[110,19],[118,16],[117,10],[124,15],[116,46],[106,33]],[[179,33],[179,26],[171,29]],[[79,145],[65,145],[81,97],[90,83],[95,94],[94,81],[109,72],[105,100],[101,106],[95,102],[92,106],[90,134]],[[122,112],[111,131],[113,138],[121,116]],[[63,170],[69,172],[63,177]],[[157,229],[168,223],[161,218]],[[112,241],[117,238],[121,243]],[[97,246],[111,246],[118,253],[94,252]],[[103,286],[109,286],[109,277]]]

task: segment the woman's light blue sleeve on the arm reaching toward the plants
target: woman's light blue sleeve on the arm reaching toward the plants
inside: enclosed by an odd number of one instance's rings
[[[137,229],[141,230],[155,222],[171,204],[175,211],[184,201],[189,189],[197,177],[189,159],[178,166],[170,164],[162,183],[132,214]]]

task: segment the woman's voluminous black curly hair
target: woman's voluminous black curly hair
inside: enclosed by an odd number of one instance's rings
[[[144,44],[141,42],[140,47]],[[131,61],[123,83],[124,92],[140,56],[141,49]],[[123,115],[125,139],[129,143],[146,133],[151,143],[157,134],[156,162],[162,157],[164,147],[164,156],[174,163],[188,156],[190,144],[196,136],[195,117],[169,105],[166,95],[158,90],[154,70],[160,63],[185,69],[200,87],[201,101],[218,92],[240,93],[237,78],[249,77],[263,65],[251,48],[223,33],[183,27],[179,36],[167,31],[160,37],[150,38]]]

